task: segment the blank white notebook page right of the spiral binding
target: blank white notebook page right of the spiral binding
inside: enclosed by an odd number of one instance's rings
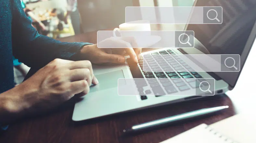
[[[240,143],[256,143],[256,114],[243,113],[210,125]]]

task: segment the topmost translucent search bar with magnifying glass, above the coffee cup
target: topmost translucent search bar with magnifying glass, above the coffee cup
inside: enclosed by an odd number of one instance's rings
[[[221,6],[127,6],[126,23],[140,23],[147,20],[150,24],[222,24]]]

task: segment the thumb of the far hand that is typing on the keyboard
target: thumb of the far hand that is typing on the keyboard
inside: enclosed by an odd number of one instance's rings
[[[103,63],[125,63],[125,57],[121,55],[102,53],[101,58]]]

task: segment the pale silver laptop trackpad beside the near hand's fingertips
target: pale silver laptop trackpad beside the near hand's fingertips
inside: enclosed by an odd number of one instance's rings
[[[95,77],[98,79],[99,84],[92,85],[90,87],[90,93],[117,87],[118,78],[124,78],[124,75],[123,70],[117,70],[105,74],[96,75]]]

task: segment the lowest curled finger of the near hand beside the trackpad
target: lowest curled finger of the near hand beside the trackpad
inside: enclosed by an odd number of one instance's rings
[[[89,85],[86,80],[79,80],[70,83],[71,86],[71,94],[74,96],[75,94],[79,94],[81,92],[87,94],[90,90]],[[71,97],[70,97],[71,98]]]

